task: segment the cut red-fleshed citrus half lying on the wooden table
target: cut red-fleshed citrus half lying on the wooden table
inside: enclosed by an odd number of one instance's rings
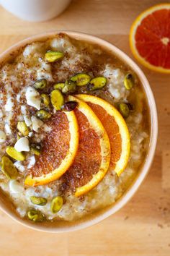
[[[130,29],[130,48],[141,64],[170,73],[170,4],[158,4],[141,13]]]

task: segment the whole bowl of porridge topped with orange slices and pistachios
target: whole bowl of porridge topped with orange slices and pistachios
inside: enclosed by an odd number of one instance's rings
[[[0,63],[1,210],[58,233],[120,210],[156,149],[156,104],[140,68],[74,32],[22,40]]]

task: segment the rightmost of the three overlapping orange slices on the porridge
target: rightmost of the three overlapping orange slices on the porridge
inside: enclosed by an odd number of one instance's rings
[[[111,146],[110,168],[114,168],[117,175],[120,175],[130,155],[130,135],[125,120],[114,106],[102,98],[86,94],[76,95],[76,98],[85,101],[102,121]]]

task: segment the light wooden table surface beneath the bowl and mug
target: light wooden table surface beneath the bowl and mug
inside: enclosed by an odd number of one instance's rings
[[[74,0],[55,20],[30,23],[0,7],[0,51],[29,35],[77,30],[109,40],[132,56],[130,25],[157,0]],[[26,229],[0,213],[1,256],[169,256],[170,255],[170,76],[143,68],[158,106],[156,156],[146,181],[119,213],[70,234]]]

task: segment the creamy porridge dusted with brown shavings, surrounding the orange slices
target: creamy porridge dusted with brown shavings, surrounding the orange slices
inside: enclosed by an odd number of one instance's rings
[[[63,56],[58,61],[50,62],[45,59],[48,51],[59,51]],[[58,110],[50,106],[49,95],[56,83],[63,84],[79,73],[88,74],[91,79],[105,77],[107,83],[99,90],[88,90],[86,85],[77,86],[72,94],[96,95],[120,112],[120,104],[128,106],[128,114],[124,113],[130,132],[128,165],[119,177],[114,168],[109,168],[104,179],[81,197],[76,197],[70,187],[65,189],[62,176],[48,184],[27,186],[24,180],[37,163],[43,140],[50,137],[54,129],[49,120],[54,120],[53,116]],[[127,74],[133,75],[134,79],[133,88],[128,90],[125,87]],[[36,84],[36,81],[40,84]],[[28,210],[35,209],[40,210],[47,220],[79,219],[114,203],[135,179],[145,160],[149,143],[146,96],[134,72],[103,48],[73,40],[63,34],[44,42],[31,43],[21,49],[13,61],[1,67],[0,93],[0,157],[11,159],[17,170],[15,179],[9,179],[3,170],[0,171],[0,187],[22,218],[27,218]],[[42,109],[49,115],[47,118],[42,118],[43,112],[37,114]],[[64,136],[62,140],[64,142]],[[10,147],[19,152],[17,158],[10,156]],[[51,201],[57,196],[62,197],[62,207],[54,212],[51,210]],[[30,200],[31,197],[42,197],[45,201],[41,205],[35,204]]]

